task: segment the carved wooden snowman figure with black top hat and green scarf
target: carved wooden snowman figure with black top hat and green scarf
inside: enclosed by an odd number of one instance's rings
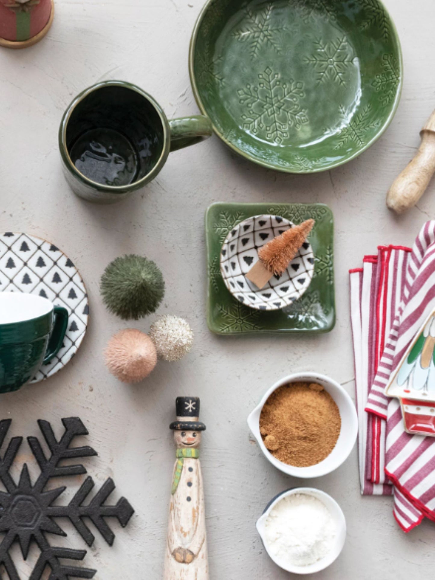
[[[171,423],[177,446],[169,507],[164,580],[208,580],[204,489],[200,464],[198,397],[177,397],[177,420]]]

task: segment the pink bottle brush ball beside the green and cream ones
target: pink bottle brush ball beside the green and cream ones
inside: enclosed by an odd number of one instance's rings
[[[145,379],[157,364],[157,350],[144,332],[128,328],[117,332],[104,351],[111,374],[123,383],[138,383]]]

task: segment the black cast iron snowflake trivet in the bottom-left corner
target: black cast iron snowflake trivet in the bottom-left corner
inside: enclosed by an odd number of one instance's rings
[[[0,421],[0,450],[10,423],[10,419]],[[132,506],[125,498],[119,499],[114,506],[105,504],[106,499],[115,489],[115,484],[111,478],[106,480],[97,494],[86,505],[84,505],[85,499],[94,487],[92,477],[89,476],[86,477],[68,505],[53,505],[53,502],[63,494],[66,487],[45,491],[50,479],[86,473],[83,465],[61,465],[63,460],[97,455],[92,447],[70,447],[74,437],[88,435],[88,430],[78,417],[62,419],[62,423],[65,432],[57,441],[50,423],[43,420],[38,421],[39,429],[41,429],[51,452],[49,458],[46,458],[37,437],[27,437],[28,444],[41,469],[41,473],[33,485],[26,463],[21,469],[19,483],[16,484],[9,473],[23,437],[12,437],[5,454],[0,456],[0,480],[6,488],[6,492],[0,491],[0,533],[3,534],[0,542],[0,564],[5,567],[10,580],[20,580],[9,554],[15,541],[20,543],[24,560],[27,559],[31,542],[36,542],[41,550],[29,580],[41,580],[47,567],[50,568],[49,580],[93,578],[96,570],[61,562],[61,559],[83,560],[86,550],[53,548],[46,538],[46,532],[66,536],[67,534],[55,521],[57,517],[66,517],[88,546],[92,546],[95,537],[83,521],[84,518],[88,518],[111,546],[115,535],[104,518],[115,517],[122,527],[125,527],[134,513]],[[2,578],[1,572],[0,578]]]

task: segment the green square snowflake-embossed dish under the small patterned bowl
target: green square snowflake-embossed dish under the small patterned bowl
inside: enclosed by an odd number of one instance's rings
[[[282,310],[253,310],[229,292],[220,273],[222,244],[238,223],[255,215],[281,216],[293,223],[313,218],[310,234],[314,274],[303,296]],[[220,335],[329,332],[335,325],[333,216],[324,204],[211,205],[205,213],[207,242],[207,324]]]

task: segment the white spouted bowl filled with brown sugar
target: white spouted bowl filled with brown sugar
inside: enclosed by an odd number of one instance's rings
[[[271,386],[248,425],[272,465],[303,478],[342,465],[358,433],[356,408],[346,390],[328,376],[309,372]]]

